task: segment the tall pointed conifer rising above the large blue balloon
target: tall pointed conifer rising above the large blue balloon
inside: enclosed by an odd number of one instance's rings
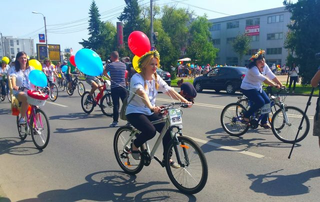
[[[93,50],[97,50],[100,47],[101,44],[101,26],[102,22],[100,20],[100,14],[97,5],[95,4],[95,1],[92,0],[92,3],[90,5],[89,9],[89,38],[87,40],[84,40],[82,38],[82,41],[79,42],[84,48],[92,48]]]

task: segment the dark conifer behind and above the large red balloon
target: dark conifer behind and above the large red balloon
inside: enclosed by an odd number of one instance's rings
[[[138,5],[137,0],[124,0],[125,7],[118,17],[118,20],[123,22],[123,36],[127,40],[129,34],[134,30],[141,30],[141,24],[143,23],[140,18],[141,8]]]

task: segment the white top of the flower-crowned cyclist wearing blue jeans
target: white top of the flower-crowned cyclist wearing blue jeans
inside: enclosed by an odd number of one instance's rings
[[[263,71],[261,73],[258,67],[253,66],[247,70],[240,87],[245,90],[256,89],[261,91],[262,82],[266,79],[264,75],[267,75],[270,80],[275,78],[275,75],[272,73],[267,64],[264,64]]]

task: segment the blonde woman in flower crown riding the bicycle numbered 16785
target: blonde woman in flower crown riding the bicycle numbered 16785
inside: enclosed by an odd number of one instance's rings
[[[156,68],[159,62],[158,51],[153,50],[145,53],[138,60],[138,69],[141,72],[135,73],[131,77],[128,97],[130,101],[127,105],[125,115],[127,120],[141,131],[131,143],[131,152],[134,159],[139,159],[140,151],[138,147],[154,137],[156,131],[160,132],[165,125],[164,122],[154,125],[151,123],[151,121],[162,118],[162,114],[160,113],[161,107],[155,105],[155,96],[158,90],[181,102],[191,104],[191,102],[183,98],[157,75]],[[168,130],[162,139],[163,148],[165,148],[171,139],[171,134]],[[173,162],[171,159],[170,165],[174,168],[180,167],[178,163]]]

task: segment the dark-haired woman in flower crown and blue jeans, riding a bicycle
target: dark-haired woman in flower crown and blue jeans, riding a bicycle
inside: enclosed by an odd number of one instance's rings
[[[258,108],[261,108],[266,103],[270,103],[269,97],[262,89],[262,82],[276,88],[283,86],[265,63],[264,50],[260,49],[257,53],[252,55],[249,60],[248,70],[240,86],[241,92],[247,96],[249,100],[254,102],[249,110],[243,114],[243,120],[247,124],[250,122],[249,117],[253,115]],[[264,75],[267,75],[267,77]],[[267,123],[267,118],[267,116],[264,116],[261,119],[261,126],[264,128],[270,128],[270,125]]]

